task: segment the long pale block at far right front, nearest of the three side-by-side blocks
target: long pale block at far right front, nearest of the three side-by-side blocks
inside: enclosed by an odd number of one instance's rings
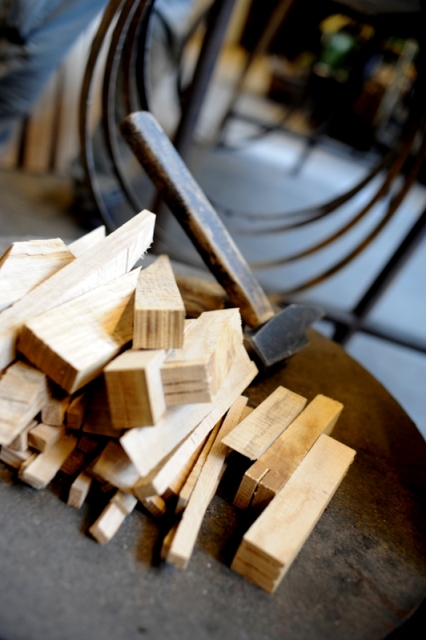
[[[323,514],[355,451],[321,435],[243,537],[231,568],[273,593]]]

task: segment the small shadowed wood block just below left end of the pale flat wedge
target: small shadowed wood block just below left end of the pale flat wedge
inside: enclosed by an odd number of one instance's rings
[[[92,473],[122,491],[131,491],[140,479],[140,474],[123,447],[113,440],[96,460]]]

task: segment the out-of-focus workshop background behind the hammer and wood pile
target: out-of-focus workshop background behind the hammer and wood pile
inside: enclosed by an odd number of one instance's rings
[[[66,37],[60,2],[24,33],[32,4],[0,28],[4,96],[21,65],[20,101],[0,99],[2,242],[150,208],[154,251],[203,268],[120,137],[148,108],[273,300],[320,304],[316,328],[426,437],[420,3],[68,2]]]

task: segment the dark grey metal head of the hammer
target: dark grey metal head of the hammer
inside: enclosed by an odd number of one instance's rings
[[[307,345],[306,329],[323,315],[320,307],[290,304],[260,327],[246,330],[244,345],[260,370],[267,371]]]

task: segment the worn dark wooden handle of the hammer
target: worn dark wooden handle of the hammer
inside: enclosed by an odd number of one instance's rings
[[[244,322],[266,322],[274,311],[265,292],[155,118],[148,111],[132,113],[121,131]]]

